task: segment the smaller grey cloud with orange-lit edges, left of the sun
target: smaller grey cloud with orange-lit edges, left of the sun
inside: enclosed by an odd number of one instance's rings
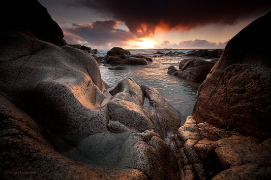
[[[66,37],[73,40],[84,40],[96,46],[105,45],[108,42],[123,43],[129,40],[137,40],[137,37],[129,31],[116,29],[116,21],[96,21],[92,24],[73,24],[73,27],[63,28]],[[76,34],[76,35],[74,35]],[[72,36],[73,35],[73,36]],[[64,37],[65,38],[65,37]]]

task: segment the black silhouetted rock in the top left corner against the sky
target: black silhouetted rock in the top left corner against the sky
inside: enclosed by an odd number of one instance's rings
[[[38,1],[1,1],[0,12],[1,30],[17,30],[28,35],[31,33],[54,45],[66,45],[62,29]]]

